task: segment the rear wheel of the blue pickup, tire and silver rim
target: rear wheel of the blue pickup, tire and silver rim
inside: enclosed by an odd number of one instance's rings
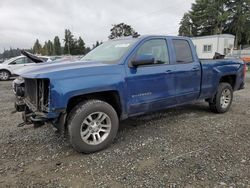
[[[228,83],[222,82],[219,84],[213,101],[209,103],[209,107],[215,113],[225,113],[229,110],[232,101],[232,86]]]

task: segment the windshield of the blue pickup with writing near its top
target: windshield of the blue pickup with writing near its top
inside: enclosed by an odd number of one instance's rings
[[[136,41],[136,39],[107,41],[90,51],[81,60],[116,63]]]

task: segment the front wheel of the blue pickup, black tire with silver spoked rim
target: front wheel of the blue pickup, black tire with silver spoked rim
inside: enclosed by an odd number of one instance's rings
[[[70,113],[70,143],[78,152],[97,152],[112,143],[118,127],[119,119],[111,105],[100,100],[87,100]]]

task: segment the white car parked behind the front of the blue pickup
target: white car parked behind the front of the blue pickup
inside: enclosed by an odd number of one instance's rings
[[[52,61],[50,57],[39,56],[39,58],[42,59],[43,62]],[[34,61],[23,55],[8,59],[0,63],[0,80],[9,80],[11,76],[15,76],[13,72],[17,69],[34,64],[36,64]]]

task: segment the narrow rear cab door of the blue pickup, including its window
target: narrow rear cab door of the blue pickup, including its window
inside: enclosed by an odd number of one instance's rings
[[[176,100],[178,104],[196,100],[200,94],[201,66],[188,40],[173,39],[175,54]]]

